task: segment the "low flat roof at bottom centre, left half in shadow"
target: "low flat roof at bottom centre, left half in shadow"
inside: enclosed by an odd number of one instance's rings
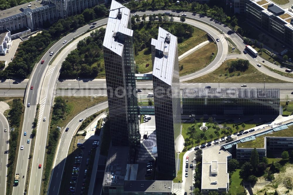
[[[170,192],[172,193],[173,181],[125,181],[125,192]]]

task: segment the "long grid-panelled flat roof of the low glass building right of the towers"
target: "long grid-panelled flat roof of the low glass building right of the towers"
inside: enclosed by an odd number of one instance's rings
[[[280,98],[280,89],[184,88],[182,98]]]

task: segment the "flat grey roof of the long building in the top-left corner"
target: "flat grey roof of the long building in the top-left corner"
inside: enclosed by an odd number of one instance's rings
[[[42,7],[41,3],[42,3],[42,1],[39,1],[39,2],[31,1],[29,3],[21,4],[19,6],[15,6],[15,7],[9,8],[9,9],[2,10],[2,11],[0,11],[0,19],[11,17],[11,16],[16,15],[18,13],[23,13],[23,10],[26,8],[35,9],[36,7],[37,8]],[[28,7],[29,5],[31,5],[31,7]]]

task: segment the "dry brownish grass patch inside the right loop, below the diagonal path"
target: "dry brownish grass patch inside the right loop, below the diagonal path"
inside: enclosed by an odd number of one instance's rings
[[[208,51],[208,52],[207,52]],[[179,75],[194,73],[209,65],[217,56],[218,48],[214,42],[210,42],[202,48],[179,61]],[[214,55],[212,55],[214,53]],[[183,69],[181,69],[183,66]]]

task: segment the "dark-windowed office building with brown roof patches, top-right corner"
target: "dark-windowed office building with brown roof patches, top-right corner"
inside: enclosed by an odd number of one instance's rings
[[[293,13],[269,0],[245,0],[246,20],[293,48]]]

